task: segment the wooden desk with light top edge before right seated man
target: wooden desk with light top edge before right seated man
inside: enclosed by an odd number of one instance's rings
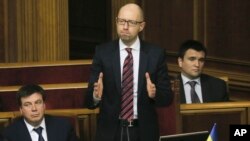
[[[181,104],[182,132],[211,130],[217,123],[221,141],[229,140],[231,124],[250,124],[250,101]]]

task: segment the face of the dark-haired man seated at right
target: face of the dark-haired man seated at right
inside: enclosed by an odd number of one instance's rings
[[[205,63],[205,53],[188,49],[183,58],[178,58],[178,64],[183,75],[190,79],[200,76]]]

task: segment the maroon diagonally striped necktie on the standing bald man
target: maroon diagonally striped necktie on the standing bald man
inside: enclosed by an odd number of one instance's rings
[[[122,98],[121,98],[121,119],[131,120],[133,118],[133,56],[131,48],[123,64],[122,72]]]

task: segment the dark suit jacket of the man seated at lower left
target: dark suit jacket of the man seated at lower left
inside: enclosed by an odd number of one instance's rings
[[[77,141],[74,128],[67,119],[46,115],[45,124],[48,141]],[[8,126],[3,136],[8,141],[32,141],[22,117]]]

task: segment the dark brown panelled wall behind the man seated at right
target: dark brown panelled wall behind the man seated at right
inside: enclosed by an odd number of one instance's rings
[[[171,64],[183,41],[197,39],[208,49],[207,68],[249,76],[249,6],[248,0],[143,0],[144,38],[166,48]]]

